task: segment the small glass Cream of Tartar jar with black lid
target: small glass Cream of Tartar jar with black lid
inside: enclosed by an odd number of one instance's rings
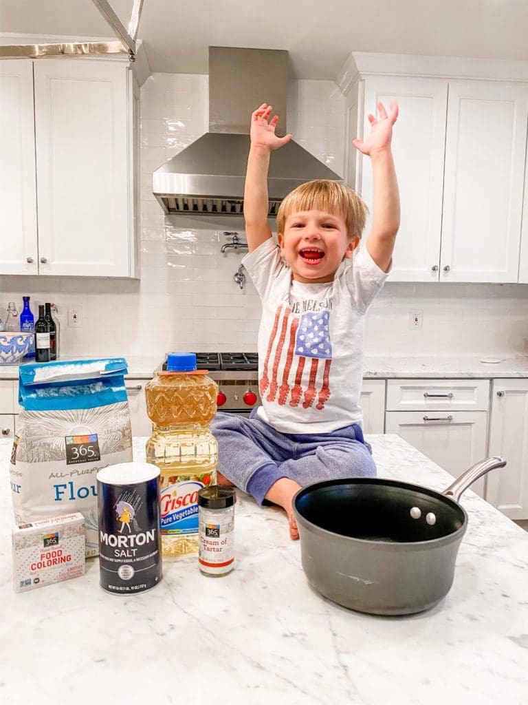
[[[199,568],[221,577],[234,568],[234,487],[210,485],[198,493]]]

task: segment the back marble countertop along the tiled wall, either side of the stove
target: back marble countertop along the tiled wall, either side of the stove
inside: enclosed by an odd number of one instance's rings
[[[79,360],[67,355],[61,360]],[[93,357],[93,356],[92,356]],[[163,353],[152,357],[125,355],[127,379],[147,379],[159,367]],[[493,362],[482,362],[492,360]],[[517,357],[365,357],[363,379],[528,377],[528,356]],[[18,365],[0,365],[0,379],[18,379]]]

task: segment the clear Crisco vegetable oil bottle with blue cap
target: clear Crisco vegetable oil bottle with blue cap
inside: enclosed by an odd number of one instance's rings
[[[198,493],[215,484],[218,445],[210,430],[218,386],[194,353],[171,353],[167,371],[145,386],[153,422],[146,460],[161,472],[163,556],[198,551]]]

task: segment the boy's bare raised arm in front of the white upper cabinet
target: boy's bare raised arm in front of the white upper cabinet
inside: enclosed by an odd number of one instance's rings
[[[352,140],[352,144],[370,157],[374,199],[372,227],[366,247],[379,269],[389,271],[396,233],[400,227],[400,197],[391,152],[392,125],[398,117],[398,104],[391,102],[389,114],[378,103],[378,118],[369,115],[372,129],[365,140]]]

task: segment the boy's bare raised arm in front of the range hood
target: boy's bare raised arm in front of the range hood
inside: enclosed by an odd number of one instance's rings
[[[268,168],[270,154],[291,140],[291,135],[277,137],[275,115],[270,120],[272,106],[263,103],[251,115],[248,166],[244,186],[244,219],[249,252],[271,238],[268,224]]]

